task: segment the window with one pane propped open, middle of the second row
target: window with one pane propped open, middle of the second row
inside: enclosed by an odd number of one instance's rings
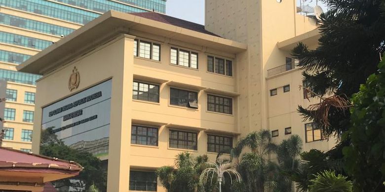
[[[170,88],[170,105],[198,108],[198,93]]]

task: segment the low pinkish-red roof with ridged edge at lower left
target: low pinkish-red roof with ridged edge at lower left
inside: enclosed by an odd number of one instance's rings
[[[77,175],[83,169],[77,162],[60,160],[0,147],[0,170]]]

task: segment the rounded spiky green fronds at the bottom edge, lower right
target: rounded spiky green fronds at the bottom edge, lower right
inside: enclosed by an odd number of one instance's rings
[[[315,175],[310,182],[310,192],[352,192],[351,181],[334,171],[325,170]]]

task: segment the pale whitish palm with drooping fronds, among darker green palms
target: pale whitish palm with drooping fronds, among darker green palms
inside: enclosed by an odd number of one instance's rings
[[[235,181],[240,182],[241,176],[236,171],[236,164],[230,161],[224,161],[222,157],[219,157],[217,159],[217,163],[215,162],[206,162],[208,165],[208,168],[203,170],[202,174],[200,175],[200,181],[207,183],[207,180],[210,178],[211,175],[211,183],[214,179],[214,176],[217,176],[217,182],[219,183],[219,192],[222,191],[222,182],[225,182],[224,175],[227,173],[230,177],[230,181],[232,183],[232,176],[234,176]],[[232,175],[232,176],[231,176]]]

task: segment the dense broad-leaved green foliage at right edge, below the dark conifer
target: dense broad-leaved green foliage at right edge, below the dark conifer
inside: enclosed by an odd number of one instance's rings
[[[384,192],[385,187],[385,57],[353,95],[351,126],[344,134],[350,141],[343,149],[346,172],[358,192]]]

